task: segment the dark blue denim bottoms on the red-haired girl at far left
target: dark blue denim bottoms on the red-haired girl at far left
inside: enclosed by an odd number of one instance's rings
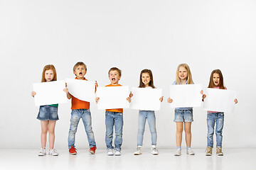
[[[38,120],[58,120],[58,107],[55,106],[40,106]]]

